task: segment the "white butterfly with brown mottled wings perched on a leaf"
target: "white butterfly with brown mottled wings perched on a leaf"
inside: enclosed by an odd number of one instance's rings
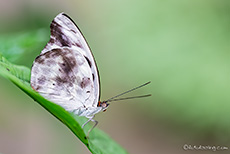
[[[95,114],[106,111],[111,101],[125,93],[143,87],[150,82],[121,93],[106,101],[99,101],[100,79],[93,54],[74,21],[65,13],[58,14],[50,25],[50,40],[36,57],[31,69],[31,87],[47,100],[60,105],[66,111],[88,118],[95,125]],[[149,95],[136,96],[146,97]],[[136,98],[135,97],[135,98]]]

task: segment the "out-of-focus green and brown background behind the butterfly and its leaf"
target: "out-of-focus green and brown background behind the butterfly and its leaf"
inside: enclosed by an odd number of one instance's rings
[[[50,22],[62,11],[93,51],[102,100],[152,81],[130,94],[151,97],[114,102],[96,116],[98,127],[129,153],[212,152],[186,151],[185,144],[230,148],[228,0],[0,0],[0,53],[31,67],[49,40]],[[90,153],[66,126],[2,77],[0,152]]]

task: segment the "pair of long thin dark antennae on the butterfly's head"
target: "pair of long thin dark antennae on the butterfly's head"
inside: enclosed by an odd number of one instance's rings
[[[125,100],[125,99],[141,98],[141,97],[148,97],[148,96],[151,96],[151,95],[143,95],[143,96],[134,96],[134,97],[126,97],[126,98],[114,99],[114,98],[117,98],[117,97],[122,96],[122,95],[124,95],[124,94],[127,94],[127,93],[129,93],[129,92],[131,92],[131,91],[134,91],[134,90],[136,90],[136,89],[139,89],[139,88],[141,88],[141,87],[144,87],[144,86],[146,86],[146,85],[148,85],[148,84],[150,84],[150,83],[151,83],[151,81],[146,82],[146,83],[144,83],[144,84],[142,84],[142,85],[140,85],[140,86],[138,86],[138,87],[135,87],[135,88],[133,88],[133,89],[127,90],[127,91],[125,91],[125,92],[123,92],[123,93],[121,93],[121,94],[119,94],[119,95],[116,95],[116,96],[114,96],[114,97],[111,97],[110,99],[106,100],[105,102],[112,102],[112,101],[118,101],[118,100]]]

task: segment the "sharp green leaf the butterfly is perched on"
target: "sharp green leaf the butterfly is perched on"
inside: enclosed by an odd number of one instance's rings
[[[16,86],[43,106],[53,116],[59,119],[76,135],[94,154],[124,154],[127,153],[119,144],[113,141],[107,134],[95,128],[86,138],[88,130],[92,127],[87,124],[84,130],[81,125],[87,120],[84,117],[76,116],[65,111],[59,105],[56,105],[37,92],[30,86],[30,69],[25,66],[18,66],[8,62],[0,54],[0,75],[12,81]]]

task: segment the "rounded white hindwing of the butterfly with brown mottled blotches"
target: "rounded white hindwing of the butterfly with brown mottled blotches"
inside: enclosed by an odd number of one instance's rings
[[[31,86],[67,111],[94,101],[93,78],[85,58],[69,48],[52,49],[38,56],[31,71]]]

